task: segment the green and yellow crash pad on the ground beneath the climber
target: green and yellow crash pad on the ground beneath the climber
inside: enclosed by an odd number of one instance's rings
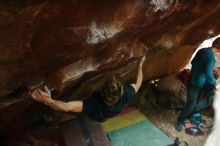
[[[126,117],[126,118],[125,118]],[[130,118],[128,118],[130,117]],[[141,117],[141,118],[140,118]],[[173,143],[173,140],[154,126],[139,111],[127,113],[126,115],[113,118],[103,124],[112,146],[166,146]],[[129,124],[121,125],[121,121]],[[130,119],[136,119],[131,122]],[[117,125],[121,126],[117,126]],[[117,128],[112,128],[115,125]],[[110,126],[110,128],[109,128]],[[108,130],[107,130],[108,129]]]

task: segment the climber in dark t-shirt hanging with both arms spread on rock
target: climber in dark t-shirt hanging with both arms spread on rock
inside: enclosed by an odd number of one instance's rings
[[[121,112],[135,96],[142,84],[142,66],[144,61],[145,56],[140,59],[136,83],[123,85],[120,75],[113,75],[111,79],[106,80],[102,91],[93,93],[88,99],[83,101],[62,102],[54,100],[51,98],[47,87],[45,87],[44,91],[39,88],[35,89],[31,92],[31,95],[36,101],[54,110],[74,113],[82,112],[95,121],[103,122]]]

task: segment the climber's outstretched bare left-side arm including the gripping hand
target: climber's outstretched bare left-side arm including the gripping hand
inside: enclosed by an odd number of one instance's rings
[[[31,96],[38,102],[41,102],[54,110],[64,111],[64,112],[82,112],[83,102],[82,101],[70,101],[62,102],[59,100],[54,100],[50,96],[50,91],[45,88],[45,91],[41,89],[35,89]]]

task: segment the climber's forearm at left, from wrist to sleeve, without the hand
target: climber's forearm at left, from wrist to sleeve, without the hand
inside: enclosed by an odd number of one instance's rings
[[[82,101],[63,102],[50,99],[45,104],[57,111],[82,112]]]

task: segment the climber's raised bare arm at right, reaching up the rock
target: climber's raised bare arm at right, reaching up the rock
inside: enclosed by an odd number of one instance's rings
[[[145,61],[145,56],[143,56],[138,64],[138,69],[137,69],[137,78],[136,78],[136,83],[131,84],[131,86],[135,89],[135,92],[137,92],[139,90],[139,88],[141,87],[142,84],[142,80],[143,80],[143,63]]]

